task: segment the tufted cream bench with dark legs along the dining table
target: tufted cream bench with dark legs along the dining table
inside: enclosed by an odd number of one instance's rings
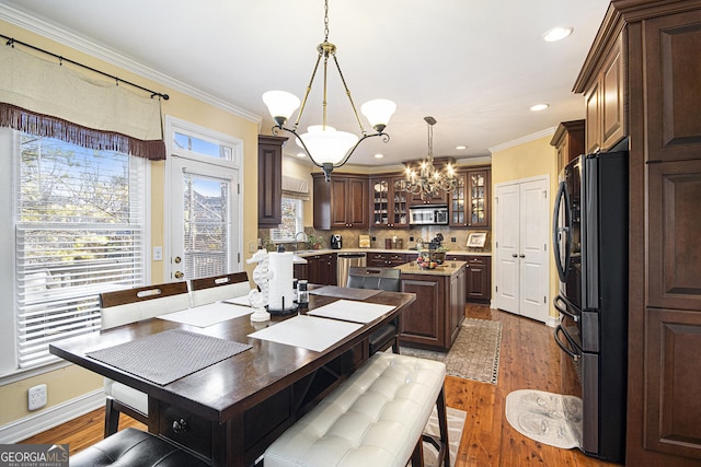
[[[433,360],[374,354],[265,452],[265,467],[423,465],[422,432],[434,405],[438,464],[450,466],[444,380]]]

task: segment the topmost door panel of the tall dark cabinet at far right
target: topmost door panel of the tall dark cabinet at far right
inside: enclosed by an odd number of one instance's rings
[[[693,159],[701,149],[701,11],[645,22],[648,159]],[[697,147],[689,151],[689,147]]]

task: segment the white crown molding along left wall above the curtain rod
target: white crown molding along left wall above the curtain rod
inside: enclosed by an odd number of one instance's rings
[[[257,124],[261,126],[263,118],[222,98],[216,97],[189,84],[183,83],[172,77],[156,71],[142,63],[131,60],[127,57],[118,55],[105,47],[85,40],[85,38],[62,30],[54,24],[35,16],[31,16],[20,10],[0,3],[0,20],[14,24],[32,33],[38,34],[56,43],[90,55],[107,63],[119,67],[126,71],[138,74],[139,77],[151,80],[158,84],[168,86],[174,91],[186,94],[214,107],[229,112],[238,117]]]

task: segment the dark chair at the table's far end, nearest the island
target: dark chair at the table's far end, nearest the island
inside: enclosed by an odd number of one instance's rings
[[[352,266],[346,287],[399,292],[402,288],[402,273],[393,268]],[[370,355],[390,347],[394,353],[399,353],[399,320],[400,316],[370,335]]]

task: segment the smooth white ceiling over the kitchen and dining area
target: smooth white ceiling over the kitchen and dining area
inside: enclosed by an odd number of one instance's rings
[[[350,161],[386,165],[425,156],[427,115],[438,121],[434,154],[456,159],[489,155],[490,148],[583,118],[583,97],[572,87],[608,3],[330,0],[329,40],[356,105],[387,97],[398,106],[390,142],[367,140]],[[169,85],[183,83],[260,116],[264,133],[273,122],[261,95],[281,89],[301,97],[323,42],[322,0],[0,0],[0,17],[23,13],[32,30],[66,32],[168,77]],[[574,34],[542,40],[558,25]],[[321,75],[314,89],[320,83]],[[332,69],[329,125],[358,133],[338,85]],[[550,107],[530,112],[538,103]],[[320,118],[313,92],[300,127]],[[382,160],[374,157],[378,152]]]

